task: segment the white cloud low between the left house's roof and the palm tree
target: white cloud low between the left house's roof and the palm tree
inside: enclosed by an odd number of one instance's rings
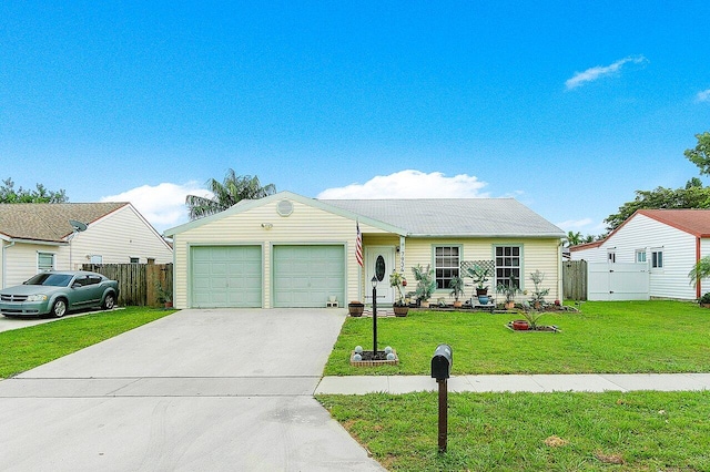
[[[143,185],[118,195],[101,197],[101,202],[130,202],[145,219],[159,232],[190,220],[185,196],[212,196],[195,182],[186,184],[162,183],[155,186]]]

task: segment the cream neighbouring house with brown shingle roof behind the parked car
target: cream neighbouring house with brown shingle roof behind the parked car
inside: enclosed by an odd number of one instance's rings
[[[87,263],[172,261],[170,244],[130,203],[0,204],[0,287]]]

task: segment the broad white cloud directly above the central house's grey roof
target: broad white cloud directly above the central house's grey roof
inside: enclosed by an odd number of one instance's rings
[[[425,174],[419,171],[400,171],[378,175],[364,184],[351,184],[321,192],[321,199],[344,198],[475,198],[487,197],[480,189],[487,184],[476,176],[459,174],[447,177],[440,172]]]

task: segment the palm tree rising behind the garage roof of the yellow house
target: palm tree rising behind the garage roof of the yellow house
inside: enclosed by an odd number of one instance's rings
[[[211,178],[206,182],[206,186],[213,194],[212,198],[197,195],[185,197],[190,219],[223,212],[243,199],[258,199],[276,193],[274,184],[262,186],[257,176],[236,175],[232,168],[227,171],[222,183]]]

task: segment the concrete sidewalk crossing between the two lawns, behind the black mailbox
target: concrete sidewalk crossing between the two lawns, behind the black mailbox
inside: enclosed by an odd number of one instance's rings
[[[534,376],[454,376],[447,381],[449,392],[554,392],[608,390],[710,390],[710,373],[578,373]],[[374,392],[408,393],[437,391],[428,376],[351,376],[324,377],[315,394],[365,394]]]

